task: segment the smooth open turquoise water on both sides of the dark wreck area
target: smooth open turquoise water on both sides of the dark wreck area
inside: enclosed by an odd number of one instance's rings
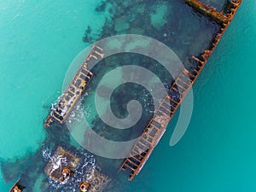
[[[100,32],[108,17],[94,11],[99,2],[0,2],[1,160],[34,152],[44,141],[44,117],[61,93],[70,62],[86,45],[84,31],[90,25]],[[255,10],[254,1],[242,3],[195,82],[193,116],[183,139],[169,146],[172,121],[143,172],[125,189],[256,190]],[[9,185],[0,175],[0,191]]]

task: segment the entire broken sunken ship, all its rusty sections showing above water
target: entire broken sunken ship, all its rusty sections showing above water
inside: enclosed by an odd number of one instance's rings
[[[201,73],[202,68],[217,47],[218,42],[223,37],[227,27],[230,26],[231,20],[233,20],[236,11],[241,5],[241,0],[227,0],[224,8],[218,11],[215,7],[198,0],[183,0],[183,2],[194,9],[195,13],[217,23],[219,31],[214,34],[211,44],[207,49],[204,49],[201,55],[190,55],[189,61],[192,67],[183,69],[177,79],[174,79],[168,90],[168,95],[165,96],[160,107],[155,110],[154,116],[149,120],[148,125],[145,125],[142,134],[131,148],[130,154],[120,163],[119,171],[128,172],[130,181],[143,169],[150,154],[164,135],[166,126],[172,119],[173,114],[176,113],[177,108],[183,102],[183,98]],[[89,86],[90,79],[93,78],[94,74],[88,69],[88,65],[102,60],[105,56],[104,49],[104,47],[97,44],[91,47],[90,53],[84,59],[70,84],[68,84],[67,89],[62,93],[55,106],[51,108],[44,121],[44,127],[50,127],[53,124],[65,124],[79,98],[83,96]],[[38,155],[38,157],[41,156]],[[40,168],[44,170],[44,177],[48,177],[52,183],[62,185],[73,183],[70,186],[75,191],[81,192],[105,191],[111,178],[94,166],[87,164],[87,166],[83,166],[85,165],[83,160],[83,154],[73,153],[67,148],[57,145],[53,148],[51,157],[47,159],[47,162],[40,164]],[[38,158],[35,161],[40,162],[42,160]],[[28,168],[28,172],[34,172],[34,170],[31,171]],[[40,172],[40,169],[37,172]],[[79,175],[79,172],[82,172],[83,175]],[[73,177],[79,177],[79,183],[74,183]],[[26,192],[26,189],[32,189],[28,187],[27,180],[26,174],[21,175],[9,192]],[[48,187],[44,187],[45,191],[47,191]]]

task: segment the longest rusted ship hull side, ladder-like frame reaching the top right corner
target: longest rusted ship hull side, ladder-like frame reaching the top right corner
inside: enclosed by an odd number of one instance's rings
[[[224,14],[224,11],[218,12],[215,8],[201,3],[198,0],[184,0],[184,2],[188,3],[196,12],[216,21],[221,28],[213,38],[209,49],[206,49],[204,53],[199,56],[191,56],[191,62],[196,65],[196,68],[192,72],[184,69],[182,73],[178,75],[168,92],[168,96],[164,98],[163,102],[160,104],[160,108],[154,113],[154,117],[149,121],[143,134],[137,139],[137,143],[134,144],[133,148],[131,148],[131,153],[125,159],[122,166],[120,166],[120,170],[130,173],[130,181],[142,170],[154,147],[166,131],[166,126],[172,119],[173,114],[183,101],[183,98],[187,95],[192,84],[194,84],[199,73],[201,73],[202,68],[207,63],[210,55],[212,55],[213,50],[218,45],[220,38],[222,38],[241,4],[241,0],[231,0],[229,12]]]

